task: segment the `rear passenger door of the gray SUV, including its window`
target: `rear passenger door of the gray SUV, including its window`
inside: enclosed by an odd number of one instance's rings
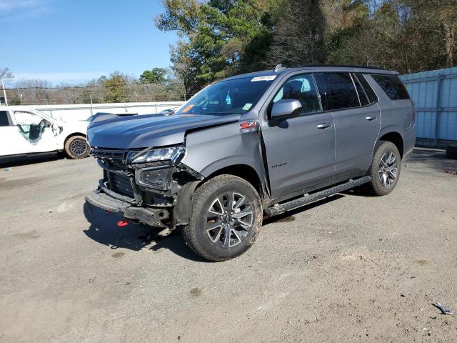
[[[351,178],[368,170],[381,130],[376,95],[361,74],[316,73],[323,109],[335,122],[336,177]],[[369,87],[369,86],[368,86]]]

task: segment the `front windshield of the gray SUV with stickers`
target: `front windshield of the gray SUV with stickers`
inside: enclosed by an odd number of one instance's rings
[[[276,75],[220,81],[200,91],[176,114],[238,114],[249,111]]]

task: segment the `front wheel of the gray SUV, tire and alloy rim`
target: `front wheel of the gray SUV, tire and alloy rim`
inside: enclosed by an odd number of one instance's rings
[[[261,224],[256,189],[241,177],[219,175],[196,189],[191,222],[182,233],[196,254],[219,262],[246,252]]]

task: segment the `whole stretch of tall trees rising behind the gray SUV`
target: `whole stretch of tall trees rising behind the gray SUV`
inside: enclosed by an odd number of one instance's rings
[[[164,0],[172,69],[193,94],[276,64],[357,64],[402,74],[455,66],[457,0]]]

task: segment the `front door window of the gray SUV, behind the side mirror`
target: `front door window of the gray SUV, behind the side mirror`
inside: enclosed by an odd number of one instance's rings
[[[321,111],[316,85],[311,74],[297,75],[288,79],[274,97],[273,102],[282,99],[300,101],[301,114]]]

